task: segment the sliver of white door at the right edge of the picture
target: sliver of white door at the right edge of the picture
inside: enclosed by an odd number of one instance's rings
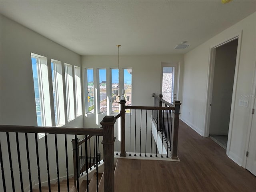
[[[256,109],[256,100],[254,102],[254,110]],[[252,117],[252,128],[250,133],[248,157],[246,169],[256,176],[256,114]]]

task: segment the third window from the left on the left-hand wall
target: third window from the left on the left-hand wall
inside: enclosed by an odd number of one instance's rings
[[[65,63],[66,104],[68,122],[75,118],[72,66]]]

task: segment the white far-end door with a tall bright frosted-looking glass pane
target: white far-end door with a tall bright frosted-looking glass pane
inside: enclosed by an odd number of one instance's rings
[[[169,103],[178,100],[177,94],[178,64],[162,62],[162,95]]]

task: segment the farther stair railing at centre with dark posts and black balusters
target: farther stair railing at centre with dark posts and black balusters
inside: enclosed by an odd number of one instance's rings
[[[120,101],[120,114],[118,114],[115,118],[120,118],[121,120],[121,128],[120,128],[120,156],[126,156],[126,125],[130,124],[129,132],[130,132],[130,141],[129,141],[129,156],[131,156],[131,137],[134,140],[134,156],[139,152],[139,155],[142,156],[142,148],[144,150],[145,156],[147,153],[147,149],[150,148],[150,156],[152,156],[152,148],[154,147],[154,143],[152,143],[152,126],[153,123],[156,126],[157,130],[162,134],[162,143],[159,143],[158,137],[159,134],[156,132],[156,150],[155,154],[157,157],[157,153],[161,154],[163,157],[163,147],[164,142],[166,143],[166,147],[170,149],[170,157],[174,160],[178,159],[177,156],[177,148],[178,148],[178,128],[179,128],[179,115],[180,115],[180,105],[179,101],[175,101],[173,104],[166,104],[164,100],[162,100],[162,95],[154,96],[154,106],[126,106],[125,100]],[[164,104],[163,104],[164,103]],[[130,117],[126,117],[126,110],[130,110]],[[131,120],[131,112],[133,112],[134,119]],[[144,116],[145,119],[142,118]],[[130,118],[130,119],[128,119]],[[151,123],[148,123],[148,118],[151,119]],[[126,123],[130,121],[130,123]],[[131,122],[133,121],[133,122]],[[142,121],[146,121],[144,125],[142,125]],[[132,124],[132,125],[131,125]],[[134,133],[131,133],[131,126],[134,126]],[[118,129],[116,130],[116,135],[118,136]],[[138,134],[139,132],[139,134]],[[143,133],[142,133],[143,132]],[[151,137],[147,138],[147,133],[151,132]],[[137,138],[136,138],[137,137]],[[139,138],[138,138],[139,137]],[[146,137],[146,138],[142,138]],[[128,137],[127,137],[128,138]],[[137,141],[138,140],[138,141]],[[145,144],[142,143],[142,140],[146,140]],[[148,140],[148,142],[147,142]],[[137,143],[136,143],[137,141]],[[118,140],[116,140],[117,145]],[[147,143],[150,144],[150,147],[147,148]],[[144,145],[144,146],[142,146]],[[116,150],[118,150],[118,146],[116,146]],[[154,153],[154,152],[153,152]],[[168,158],[168,152],[166,152],[166,157]]]

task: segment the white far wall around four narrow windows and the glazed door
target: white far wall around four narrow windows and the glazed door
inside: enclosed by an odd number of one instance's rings
[[[180,86],[178,100],[182,102],[183,55],[120,55],[120,69],[132,68],[132,106],[152,106],[152,93],[161,91],[161,62],[180,62]],[[84,68],[117,68],[118,56],[82,56]],[[84,76],[84,74],[83,74]],[[94,76],[94,82],[95,82]],[[107,77],[108,78],[108,77]],[[107,79],[108,81],[108,79]],[[83,90],[84,91],[84,90]],[[99,127],[106,114],[86,114],[85,127]]]

